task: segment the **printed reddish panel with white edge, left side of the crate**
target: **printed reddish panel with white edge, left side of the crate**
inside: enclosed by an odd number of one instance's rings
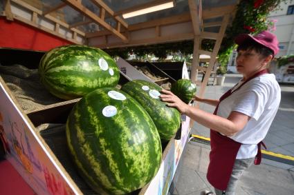
[[[0,77],[0,81],[3,80]],[[6,158],[37,194],[77,194],[0,82],[0,138]]]

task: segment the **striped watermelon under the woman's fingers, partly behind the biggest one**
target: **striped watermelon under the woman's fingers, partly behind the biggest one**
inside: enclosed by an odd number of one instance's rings
[[[168,141],[181,125],[181,114],[174,107],[160,100],[160,88],[155,83],[143,80],[129,81],[121,90],[138,101],[153,119],[160,138]]]

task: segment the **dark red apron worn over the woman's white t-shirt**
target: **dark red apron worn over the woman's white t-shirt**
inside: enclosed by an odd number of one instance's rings
[[[232,91],[233,88],[228,90],[228,92],[221,96],[219,103],[221,103],[223,99],[226,99],[228,96],[230,96],[233,92],[239,90],[251,79],[267,73],[267,70],[261,70],[244,81],[244,83],[242,83],[236,90]],[[217,115],[218,108],[219,104],[215,108],[213,114]],[[257,156],[255,156],[255,165],[259,165],[261,163],[261,144],[264,145],[264,143],[258,143],[258,152]],[[208,181],[213,187],[226,190],[230,176],[232,174],[232,167],[234,166],[237,153],[241,147],[241,143],[232,140],[228,136],[223,136],[219,132],[210,130],[210,146],[210,164],[208,166],[207,174]]]

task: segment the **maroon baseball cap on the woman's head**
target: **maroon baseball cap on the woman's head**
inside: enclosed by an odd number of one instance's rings
[[[266,48],[273,51],[274,55],[279,52],[279,41],[277,41],[277,37],[275,34],[270,33],[268,30],[264,30],[259,34],[252,36],[251,34],[239,34],[235,38],[235,43],[241,45],[244,41],[251,39],[261,45],[264,45]]]

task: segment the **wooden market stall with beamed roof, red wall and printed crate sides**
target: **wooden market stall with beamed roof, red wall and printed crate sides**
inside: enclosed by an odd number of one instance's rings
[[[9,55],[11,59],[15,57],[22,62],[27,61],[28,54],[24,52],[29,51],[33,52],[32,59],[40,59],[45,51],[72,43],[107,49],[192,40],[194,52],[190,77],[199,85],[199,96],[203,96],[226,27],[234,17],[236,4],[237,1],[232,0],[6,0],[0,3],[0,63],[12,65],[6,61]],[[162,5],[169,8],[137,16],[128,15]],[[211,52],[201,48],[203,39],[215,40]],[[22,51],[21,56],[17,54],[19,51]],[[210,56],[206,68],[199,66],[201,54]],[[25,68],[37,68],[37,64],[32,63],[24,65]],[[203,81],[197,81],[198,71],[205,72]],[[31,73],[31,70],[28,72]],[[120,84],[130,79],[123,72],[120,72],[120,77]],[[0,81],[1,136],[10,145],[10,152],[6,155],[8,161],[37,194],[87,194],[89,189],[75,176],[66,156],[62,156],[65,152],[56,151],[57,146],[64,147],[58,145],[64,138],[64,130],[59,128],[59,132],[50,133],[39,129],[44,123],[64,123],[79,99],[50,99],[44,107],[26,107],[32,108],[26,110],[2,76]],[[190,119],[183,116],[180,130],[165,145],[158,174],[137,194],[167,194],[190,125]],[[52,136],[53,139],[50,139]]]

